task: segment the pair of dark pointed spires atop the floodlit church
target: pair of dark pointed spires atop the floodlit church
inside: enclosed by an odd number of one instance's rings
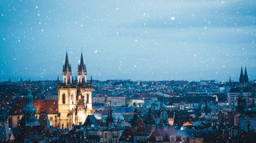
[[[69,59],[67,56],[66,52],[66,59],[65,59],[65,64],[63,64],[62,68],[62,84],[87,84],[87,71],[86,71],[86,66],[84,64],[84,59],[83,59],[83,53],[81,53],[81,59],[80,59],[80,64],[78,64],[77,68],[77,76],[78,79],[76,81],[73,81],[73,76],[72,76],[72,70],[71,70],[71,64],[69,63]],[[57,81],[57,84],[59,83],[59,80]],[[91,78],[91,83],[92,85],[92,78]]]

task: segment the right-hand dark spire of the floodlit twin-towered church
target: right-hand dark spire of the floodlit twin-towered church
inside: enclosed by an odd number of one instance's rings
[[[84,65],[83,53],[81,53],[80,64],[77,67],[78,84],[86,84],[86,66]]]

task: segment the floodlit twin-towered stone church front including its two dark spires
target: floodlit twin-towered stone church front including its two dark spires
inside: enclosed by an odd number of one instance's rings
[[[71,64],[66,53],[65,64],[62,69],[62,84],[57,79],[58,90],[58,128],[72,128],[73,124],[83,124],[88,115],[93,115],[92,83],[86,82],[86,69],[81,54],[78,68],[78,82],[73,81]],[[91,79],[92,80],[92,79]]]

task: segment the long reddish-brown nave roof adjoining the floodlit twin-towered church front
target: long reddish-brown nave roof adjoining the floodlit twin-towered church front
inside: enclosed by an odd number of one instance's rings
[[[23,115],[22,109],[26,105],[26,100],[17,101],[12,107],[9,115]],[[47,112],[48,114],[58,114],[58,100],[56,99],[38,99],[33,100],[33,105],[37,109],[36,114]]]

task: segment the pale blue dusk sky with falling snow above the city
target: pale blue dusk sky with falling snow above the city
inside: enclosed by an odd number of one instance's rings
[[[148,1],[0,0],[0,81],[256,79],[256,0]]]

